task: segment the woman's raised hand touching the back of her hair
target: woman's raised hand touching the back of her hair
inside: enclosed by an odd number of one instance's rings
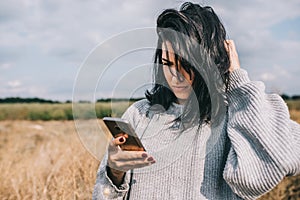
[[[236,69],[240,68],[240,61],[239,61],[239,56],[236,51],[234,41],[233,40],[226,40],[224,42],[225,49],[229,55],[229,60],[230,60],[230,67],[229,67],[229,72],[233,72]]]

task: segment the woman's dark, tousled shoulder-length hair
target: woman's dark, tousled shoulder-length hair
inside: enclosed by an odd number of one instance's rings
[[[230,64],[224,47],[226,31],[218,16],[211,7],[186,2],[179,11],[167,9],[158,16],[157,34],[153,70],[155,85],[145,93],[150,105],[159,104],[167,110],[177,100],[167,87],[161,67],[162,45],[169,41],[176,52],[176,63],[180,62],[190,75],[195,75],[194,92],[189,97],[180,120],[200,124],[210,122],[214,115],[205,70],[217,68],[222,79],[222,85],[219,84],[218,87],[227,88]]]

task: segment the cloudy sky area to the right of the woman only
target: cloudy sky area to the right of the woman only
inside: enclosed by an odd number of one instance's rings
[[[299,94],[299,37],[281,33],[287,30],[287,23],[295,24],[299,19],[300,2],[255,0],[241,3],[236,0],[210,3],[224,22],[229,38],[235,40],[241,65],[250,77],[264,81],[269,91]],[[288,31],[298,29],[289,26]]]

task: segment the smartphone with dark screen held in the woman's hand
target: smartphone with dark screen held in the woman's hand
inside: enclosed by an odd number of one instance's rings
[[[126,142],[120,145],[124,151],[146,151],[134,129],[127,120],[121,118],[104,117],[103,122],[114,138],[124,136]]]

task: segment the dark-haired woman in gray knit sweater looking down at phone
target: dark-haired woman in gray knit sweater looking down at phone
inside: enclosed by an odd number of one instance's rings
[[[165,10],[157,33],[155,86],[123,115],[147,152],[112,140],[93,199],[255,199],[299,174],[299,124],[240,68],[212,8]]]

